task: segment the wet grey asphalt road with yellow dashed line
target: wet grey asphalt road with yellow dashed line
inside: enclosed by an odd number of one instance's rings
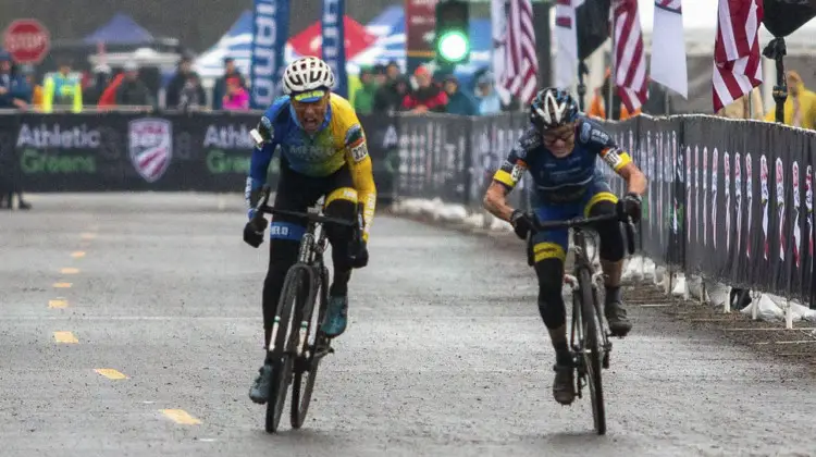
[[[247,398],[268,243],[240,240],[240,196],[33,202],[0,213],[3,456],[816,454],[808,374],[643,308],[594,435],[589,397],[551,397],[521,251],[387,217],[307,424],[268,435]]]

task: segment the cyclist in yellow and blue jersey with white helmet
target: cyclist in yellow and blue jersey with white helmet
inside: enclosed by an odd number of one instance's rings
[[[325,197],[326,215],[353,220],[362,205],[363,243],[351,246],[353,228],[326,225],[332,245],[334,277],[329,289],[329,309],[323,332],[341,335],[347,323],[348,281],[353,268],[368,264],[368,237],[374,217],[376,188],[366,134],[348,100],[331,91],[334,74],[321,59],[305,57],[292,62],[283,75],[285,96],[275,100],[261,118],[252,137],[252,151],[245,190],[249,219],[265,184],[272,156],[281,152],[281,176],[274,207],[305,212]],[[297,261],[306,226],[298,218],[275,215],[270,226],[270,260],[263,283],[264,348],[269,347],[275,306],[288,269]],[[252,247],[263,242],[263,232],[247,223],[244,240]],[[268,400],[272,368],[264,360],[249,397]]]

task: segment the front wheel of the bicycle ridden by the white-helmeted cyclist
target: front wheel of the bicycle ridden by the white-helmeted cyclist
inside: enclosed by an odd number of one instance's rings
[[[277,301],[279,316],[277,335],[275,336],[275,354],[272,363],[272,383],[270,385],[269,400],[267,402],[267,433],[275,433],[281,424],[283,407],[286,404],[286,391],[292,383],[292,371],[294,366],[294,349],[297,344],[296,323],[292,322],[293,309],[299,309],[298,298],[302,284],[308,284],[309,270],[306,265],[295,264],[286,273],[286,279],[281,289],[281,298]]]

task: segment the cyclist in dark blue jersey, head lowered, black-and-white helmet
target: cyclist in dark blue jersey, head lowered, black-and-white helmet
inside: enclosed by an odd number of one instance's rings
[[[532,228],[533,214],[510,207],[507,195],[524,172],[530,172],[534,214],[542,222],[616,211],[622,211],[638,222],[646,177],[611,136],[582,115],[578,103],[566,90],[543,89],[530,108],[532,125],[496,171],[484,197],[484,207],[497,218],[510,222],[516,234],[526,239]],[[626,180],[628,189],[622,200],[618,201],[611,194],[607,180],[596,165],[598,157]],[[625,239],[618,222],[598,224],[596,230],[601,238],[601,264],[606,286],[604,314],[610,332],[622,337],[632,329],[620,296]],[[562,405],[574,399],[572,355],[567,344],[561,297],[567,249],[566,228],[539,232],[533,236],[539,311],[556,351],[553,396]]]

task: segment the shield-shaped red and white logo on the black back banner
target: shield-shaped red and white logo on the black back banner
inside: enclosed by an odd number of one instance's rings
[[[173,127],[164,119],[145,118],[128,124],[131,162],[148,183],[168,171],[173,158]]]

